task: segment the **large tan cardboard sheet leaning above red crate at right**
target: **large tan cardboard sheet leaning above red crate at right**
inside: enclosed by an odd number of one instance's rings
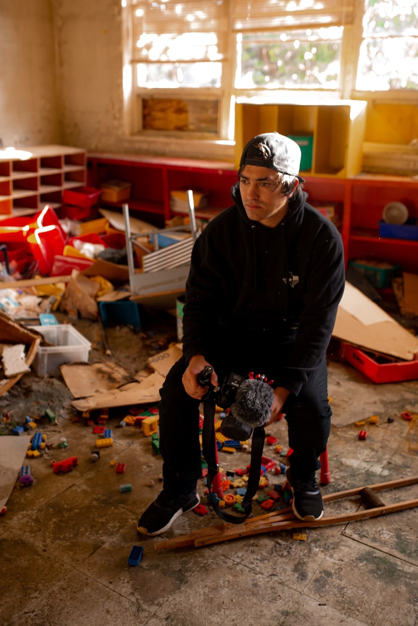
[[[339,305],[333,336],[355,346],[412,361],[418,339],[349,282]]]

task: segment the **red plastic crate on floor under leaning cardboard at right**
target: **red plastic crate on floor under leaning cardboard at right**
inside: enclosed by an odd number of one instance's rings
[[[418,361],[397,361],[386,354],[361,350],[342,343],[340,357],[372,382],[402,382],[418,379]]]

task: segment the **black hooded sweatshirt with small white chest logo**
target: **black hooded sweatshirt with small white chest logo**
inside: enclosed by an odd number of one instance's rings
[[[273,387],[297,395],[324,359],[344,292],[344,254],[334,224],[297,187],[288,212],[270,228],[250,220],[239,183],[235,204],[196,239],[183,309],[183,354],[210,361],[224,337],[266,342],[292,336],[286,362],[277,359]]]

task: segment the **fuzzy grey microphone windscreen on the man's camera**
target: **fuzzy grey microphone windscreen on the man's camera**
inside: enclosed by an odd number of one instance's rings
[[[273,398],[273,389],[267,382],[248,378],[237,389],[232,414],[252,428],[263,426],[271,417]]]

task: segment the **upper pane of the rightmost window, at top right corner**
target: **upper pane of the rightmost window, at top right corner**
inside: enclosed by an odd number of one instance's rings
[[[364,37],[418,35],[418,4],[412,0],[366,0]]]

